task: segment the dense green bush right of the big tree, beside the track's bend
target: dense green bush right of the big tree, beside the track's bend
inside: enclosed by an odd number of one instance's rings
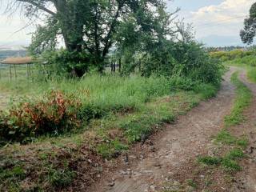
[[[190,78],[191,81],[218,85],[222,77],[222,65],[210,58],[202,46],[195,42],[166,42],[165,51],[147,54],[141,59],[142,74],[162,74]]]

